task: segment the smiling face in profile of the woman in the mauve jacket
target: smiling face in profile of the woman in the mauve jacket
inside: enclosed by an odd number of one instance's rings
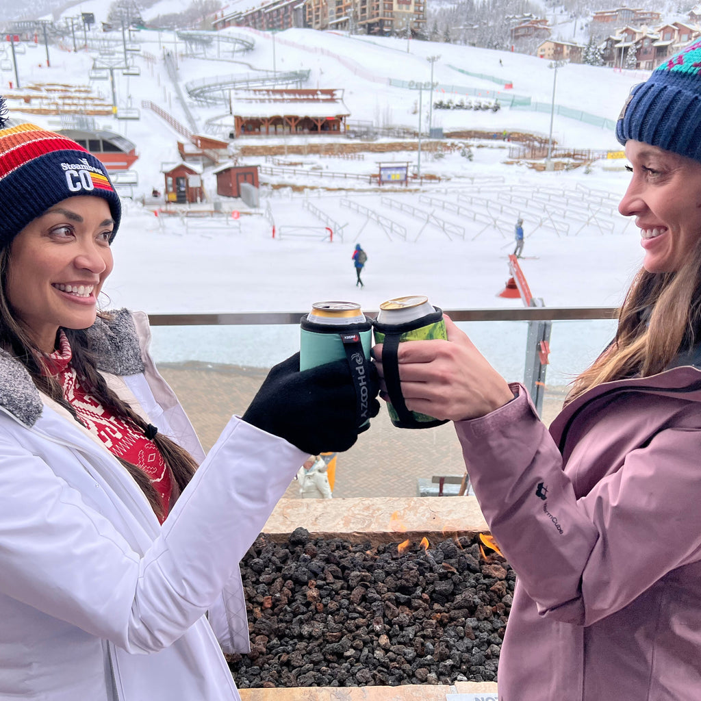
[[[632,177],[618,211],[635,217],[643,267],[651,273],[678,271],[701,238],[701,163],[632,140],[625,154]]]

